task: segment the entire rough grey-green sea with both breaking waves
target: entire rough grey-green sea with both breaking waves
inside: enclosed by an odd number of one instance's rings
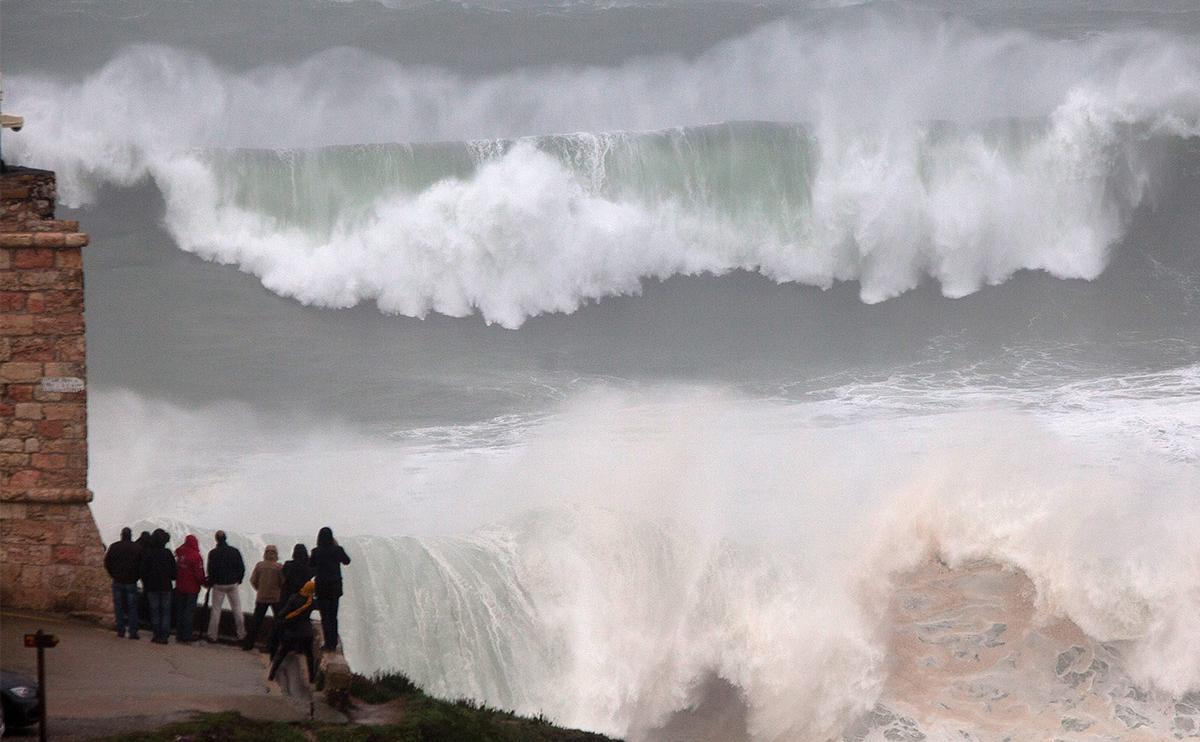
[[[632,740],[1200,729],[1193,2],[0,12],[106,537]]]

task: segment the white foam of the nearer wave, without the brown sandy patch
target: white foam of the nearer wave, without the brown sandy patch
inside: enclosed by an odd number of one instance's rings
[[[880,693],[892,576],[931,552],[1020,568],[1043,616],[1117,642],[1138,682],[1200,684],[1200,481],[1193,463],[1130,445],[1145,431],[1096,424],[1124,419],[1120,400],[835,423],[827,413],[844,401],[595,394],[517,445],[505,433],[492,454],[438,449],[432,466],[409,442],[328,425],[230,426],[228,411],[95,401],[106,439],[126,441],[95,449],[97,505],[124,505],[97,511],[106,529],[154,513],[192,523],[176,533],[258,533],[239,541],[257,553],[329,521],[354,557],[352,664],[442,695],[636,737],[720,677],[754,738],[824,738]],[[223,481],[199,493],[170,481],[169,450],[235,450],[229,430],[257,453],[220,463]],[[149,469],[106,466],[127,459],[130,438],[158,451]],[[278,454],[262,453],[272,442]],[[155,490],[172,496],[139,499]],[[367,522],[374,535],[355,535]],[[442,535],[422,533],[432,523]]]

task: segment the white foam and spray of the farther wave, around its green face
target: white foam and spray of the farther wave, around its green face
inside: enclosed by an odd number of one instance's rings
[[[8,90],[31,122],[10,146],[58,170],[70,204],[100,184],[149,176],[181,247],[271,291],[418,317],[479,312],[505,327],[677,274],[858,281],[872,303],[925,277],[952,297],[1022,269],[1093,279],[1153,181],[1147,142],[1200,131],[1200,52],[1187,40],[1051,41],[904,16],[820,30],[773,24],[692,60],[479,80],[349,49],[235,74],[194,54],[137,47],[84,80],[18,76]],[[989,133],[1014,118],[1036,125]],[[588,169],[594,157],[564,161],[526,142],[476,148],[504,154],[468,173],[434,168],[432,185],[415,192],[383,189],[314,229],[241,203],[246,182],[196,150],[496,144],[739,119],[805,121],[814,149],[791,195],[766,189],[733,216],[710,208],[724,197],[710,179],[650,195],[613,189],[610,173]],[[954,133],[940,133],[940,121]],[[686,137],[678,144],[671,167],[703,175],[702,154]],[[290,173],[307,181],[282,184],[289,193],[341,203],[313,187],[319,170]]]

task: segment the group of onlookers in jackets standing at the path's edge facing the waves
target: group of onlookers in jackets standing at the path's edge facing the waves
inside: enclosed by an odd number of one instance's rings
[[[301,652],[308,659],[308,677],[313,676],[313,630],[311,614],[320,614],[320,626],[326,651],[336,650],[337,610],[342,597],[342,566],[350,563],[346,550],[334,539],[331,528],[317,534],[312,553],[296,544],[292,560],[280,564],[278,549],[268,545],[263,561],[250,574],[254,588],[254,612],[250,630],[245,626],[239,590],[246,576],[241,552],[227,543],[226,533],[217,531],[216,545],[208,560],[200,556],[200,544],[187,535],[172,555],[170,537],[162,528],[154,533],[143,531],[137,540],[128,527],[121,529],[121,540],[112,544],[104,555],[104,567],[113,579],[113,609],[116,615],[116,635],[139,639],[138,582],[145,593],[150,611],[151,641],[168,644],[170,618],[175,616],[175,641],[191,644],[193,620],[202,588],[209,590],[208,640],[217,640],[222,604],[228,600],[234,616],[234,628],[244,650],[252,650],[258,639],[266,611],[275,618],[275,630],[268,641],[271,654],[271,677],[290,652]]]

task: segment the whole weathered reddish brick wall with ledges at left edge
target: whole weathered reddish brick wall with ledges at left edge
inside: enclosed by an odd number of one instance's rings
[[[54,173],[0,174],[0,606],[103,617],[88,490],[83,262]]]

